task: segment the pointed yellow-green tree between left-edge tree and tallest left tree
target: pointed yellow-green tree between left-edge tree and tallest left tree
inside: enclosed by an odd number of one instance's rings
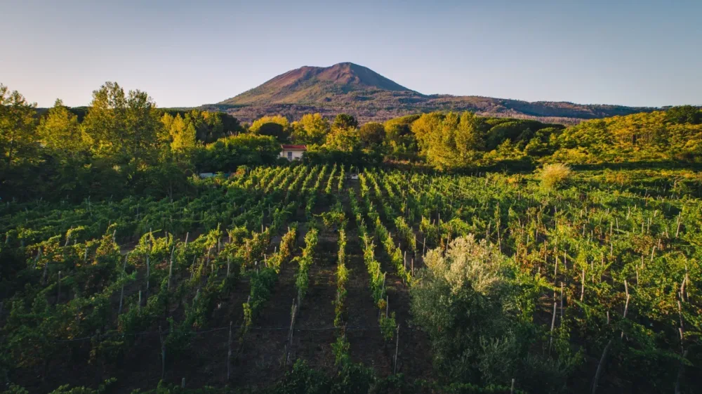
[[[63,158],[73,158],[86,149],[86,140],[78,124],[77,115],[68,110],[61,100],[56,100],[41,119],[37,134],[49,150]]]

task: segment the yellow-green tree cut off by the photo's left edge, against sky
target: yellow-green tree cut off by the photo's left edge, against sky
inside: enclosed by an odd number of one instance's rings
[[[18,91],[0,84],[0,150],[7,166],[29,159],[36,140],[34,103],[27,103]]]

